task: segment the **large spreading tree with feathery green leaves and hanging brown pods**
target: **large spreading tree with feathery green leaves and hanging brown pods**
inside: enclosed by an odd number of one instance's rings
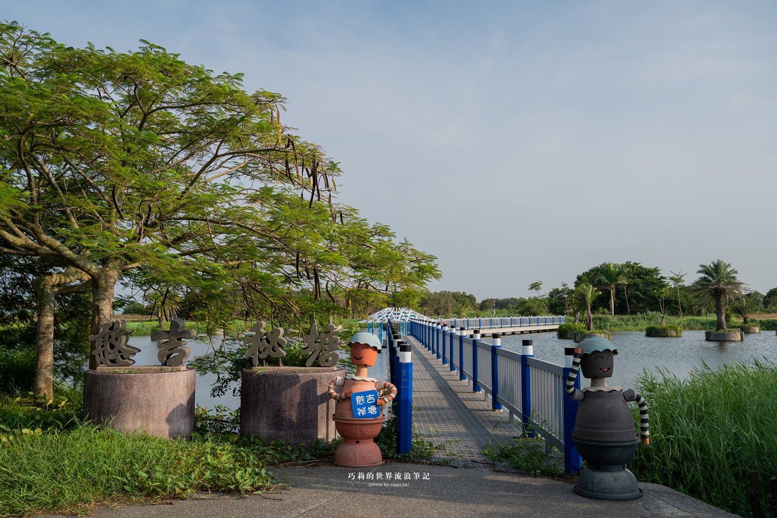
[[[333,200],[340,170],[280,123],[282,96],[143,43],[76,49],[0,25],[0,252],[84,273],[92,332],[134,269],[193,283],[208,308],[230,285],[290,315],[301,290],[417,298],[439,275]]]

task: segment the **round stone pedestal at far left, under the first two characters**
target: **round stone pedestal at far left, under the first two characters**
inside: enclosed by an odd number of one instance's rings
[[[98,367],[84,375],[84,419],[164,439],[194,430],[196,371],[186,367]]]

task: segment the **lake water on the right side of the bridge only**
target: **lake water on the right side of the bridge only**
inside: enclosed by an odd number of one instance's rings
[[[575,345],[573,340],[556,338],[556,332],[542,332],[505,335],[502,348],[520,353],[523,339],[533,341],[536,358],[559,365],[564,363],[564,347]],[[703,331],[683,331],[678,338],[653,338],[643,332],[622,331],[612,332],[611,340],[618,355],[608,384],[625,388],[633,386],[643,368],[663,367],[682,378],[688,376],[693,367],[701,366],[702,361],[713,368],[723,363],[764,358],[777,363],[777,334],[774,331],[744,335],[744,342],[707,342]],[[485,342],[490,342],[490,338]],[[583,386],[589,384],[585,378],[582,383]]]

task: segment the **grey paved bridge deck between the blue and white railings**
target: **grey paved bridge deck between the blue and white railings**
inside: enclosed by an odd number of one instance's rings
[[[483,447],[519,435],[520,421],[510,422],[507,411],[493,412],[484,392],[473,392],[472,385],[458,379],[458,371],[449,370],[412,336],[403,338],[413,346],[416,433],[445,447],[435,458],[451,459],[458,467],[490,468]],[[497,468],[511,471],[505,466]]]

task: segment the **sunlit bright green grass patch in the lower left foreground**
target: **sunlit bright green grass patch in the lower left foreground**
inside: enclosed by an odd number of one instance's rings
[[[26,430],[26,431],[25,431]],[[124,436],[80,424],[0,436],[0,514],[83,514],[99,502],[196,491],[264,492],[274,478],[256,451],[214,440]]]

